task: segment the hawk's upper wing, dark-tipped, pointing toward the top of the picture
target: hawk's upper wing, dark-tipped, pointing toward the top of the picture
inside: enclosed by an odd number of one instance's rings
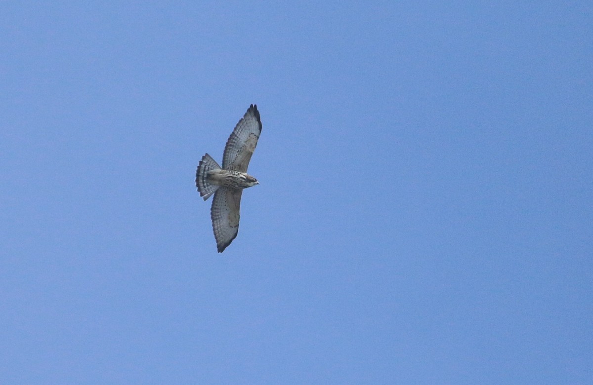
[[[222,168],[247,172],[251,155],[257,146],[257,139],[262,132],[257,105],[251,104],[241,118],[231,136],[228,137],[222,156]]]

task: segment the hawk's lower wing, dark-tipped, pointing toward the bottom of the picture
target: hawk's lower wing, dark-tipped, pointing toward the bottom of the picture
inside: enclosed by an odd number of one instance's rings
[[[210,216],[216,238],[216,248],[221,253],[231,244],[239,231],[239,206],[243,190],[219,187],[214,193]]]

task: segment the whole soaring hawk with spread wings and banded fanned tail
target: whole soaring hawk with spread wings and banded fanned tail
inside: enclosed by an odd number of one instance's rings
[[[256,178],[247,174],[247,166],[261,132],[262,121],[257,105],[251,104],[228,137],[222,167],[208,153],[202,156],[197,166],[196,187],[200,197],[207,200],[214,194],[210,216],[219,253],[237,237],[241,192],[259,184]]]

